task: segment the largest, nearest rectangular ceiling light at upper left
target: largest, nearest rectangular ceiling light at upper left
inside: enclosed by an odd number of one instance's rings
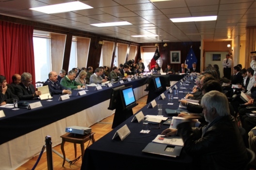
[[[93,8],[80,1],[60,3],[56,5],[48,5],[36,8],[30,8],[30,10],[39,11],[46,14],[64,13],[69,11],[84,10]]]

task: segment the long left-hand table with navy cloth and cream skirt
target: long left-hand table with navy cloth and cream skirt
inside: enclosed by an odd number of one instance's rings
[[[147,77],[138,78],[122,85],[132,85],[135,99],[140,99],[147,94],[144,91],[147,80]],[[102,90],[89,86],[82,96],[77,96],[79,90],[72,90],[70,99],[63,101],[59,101],[60,95],[53,95],[53,101],[27,100],[41,102],[42,107],[32,110],[0,107],[5,114],[0,118],[0,169],[14,170],[38,155],[47,135],[52,137],[52,146],[56,146],[62,142],[60,136],[65,133],[65,127],[90,127],[112,115],[114,111],[107,108],[112,88],[119,85],[102,86]]]

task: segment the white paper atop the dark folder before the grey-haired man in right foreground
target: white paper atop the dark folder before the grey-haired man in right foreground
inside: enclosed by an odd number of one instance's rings
[[[172,136],[172,137],[160,137],[163,135],[158,135],[152,142],[155,143],[163,143],[163,144],[171,144],[176,146],[183,146],[184,142],[181,137]]]

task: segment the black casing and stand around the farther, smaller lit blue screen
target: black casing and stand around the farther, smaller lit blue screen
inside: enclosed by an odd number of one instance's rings
[[[160,96],[166,90],[164,77],[160,76],[159,78],[160,78],[162,89],[160,91],[157,91],[156,87],[154,85],[154,80],[151,80],[150,83],[149,83],[149,89],[148,89],[148,95],[147,95],[147,102],[146,103],[149,103],[153,99],[156,99],[158,96]]]

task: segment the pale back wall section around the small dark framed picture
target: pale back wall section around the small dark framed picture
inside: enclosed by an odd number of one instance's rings
[[[205,66],[207,66],[208,64],[211,64],[213,66],[213,64],[217,64],[220,68],[220,73],[221,73],[221,77],[223,77],[223,66],[222,66],[222,61],[226,58],[226,54],[227,52],[206,52],[206,59],[205,59]],[[212,61],[211,60],[211,56],[212,54],[221,54],[221,61]]]

